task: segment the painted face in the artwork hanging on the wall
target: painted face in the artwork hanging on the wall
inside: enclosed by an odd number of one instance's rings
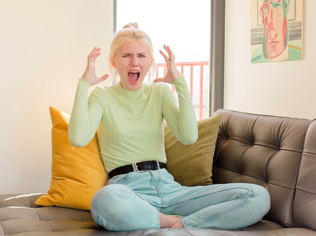
[[[260,9],[261,20],[264,24],[264,39],[262,47],[264,56],[273,60],[280,55],[287,46],[288,26],[287,11],[288,0],[264,0]]]

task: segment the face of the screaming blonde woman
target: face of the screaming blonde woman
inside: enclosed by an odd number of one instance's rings
[[[139,40],[123,44],[114,59],[113,65],[124,89],[137,90],[151,66],[148,49]]]

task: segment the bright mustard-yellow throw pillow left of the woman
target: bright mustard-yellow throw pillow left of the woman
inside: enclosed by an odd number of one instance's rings
[[[97,136],[86,147],[72,146],[68,137],[69,114],[54,107],[49,110],[52,177],[47,194],[39,197],[35,204],[90,210],[92,197],[107,184]]]

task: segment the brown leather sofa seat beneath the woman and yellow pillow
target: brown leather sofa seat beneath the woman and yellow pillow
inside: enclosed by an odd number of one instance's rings
[[[284,228],[269,220],[242,229],[156,228],[113,232],[98,226],[90,211],[57,206],[36,206],[35,200],[42,194],[0,195],[0,235],[11,236],[84,236],[84,235],[316,235],[305,228]]]

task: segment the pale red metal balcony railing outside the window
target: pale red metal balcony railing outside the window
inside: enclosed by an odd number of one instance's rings
[[[181,75],[185,76],[187,80],[191,100],[194,100],[193,105],[196,110],[195,113],[197,119],[201,120],[208,117],[208,99],[204,99],[206,101],[203,103],[203,94],[206,95],[206,98],[208,95],[208,86],[204,86],[205,81],[209,81],[207,79],[208,62],[175,63],[175,65],[180,71]],[[166,70],[165,63],[156,64],[155,78],[164,77],[167,72]],[[171,85],[171,89],[175,93],[174,85]],[[206,89],[206,91],[204,89]]]

